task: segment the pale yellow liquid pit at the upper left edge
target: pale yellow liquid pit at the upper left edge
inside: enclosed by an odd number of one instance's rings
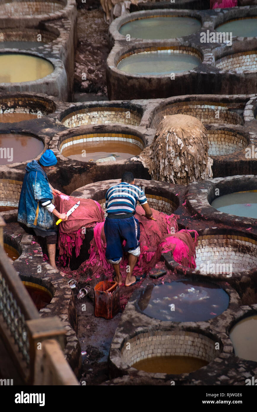
[[[0,83],[31,82],[54,71],[47,60],[29,54],[0,55]]]

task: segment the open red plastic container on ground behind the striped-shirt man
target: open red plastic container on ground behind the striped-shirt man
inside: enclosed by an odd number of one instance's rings
[[[119,284],[102,281],[97,283],[95,291],[95,316],[112,319],[120,310]]]

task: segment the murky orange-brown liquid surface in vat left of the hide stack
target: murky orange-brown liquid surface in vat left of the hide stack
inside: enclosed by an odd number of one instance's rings
[[[116,160],[128,159],[129,157],[139,155],[141,151],[140,147],[133,143],[108,141],[97,145],[86,143],[71,145],[63,149],[62,155],[80,162],[95,162],[98,159],[110,156],[114,156]]]

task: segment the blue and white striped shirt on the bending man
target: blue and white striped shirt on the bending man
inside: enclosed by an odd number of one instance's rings
[[[110,187],[105,195],[106,212],[113,215],[134,213],[136,204],[147,203],[145,193],[138,186],[121,182],[119,185]]]

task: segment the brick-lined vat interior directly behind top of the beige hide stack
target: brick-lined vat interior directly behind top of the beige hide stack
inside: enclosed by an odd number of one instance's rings
[[[233,110],[233,104],[231,104]],[[152,127],[157,127],[164,116],[167,115],[189,115],[199,119],[203,124],[222,123],[222,124],[242,124],[242,117],[238,113],[229,110],[226,103],[209,101],[182,101],[161,105],[157,108],[152,119]]]

